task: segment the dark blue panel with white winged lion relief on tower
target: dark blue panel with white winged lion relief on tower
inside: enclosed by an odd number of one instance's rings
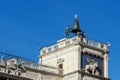
[[[81,55],[81,69],[86,73],[103,76],[103,60],[87,53]]]

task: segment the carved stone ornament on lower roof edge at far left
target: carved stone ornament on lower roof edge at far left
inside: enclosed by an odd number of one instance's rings
[[[26,72],[24,63],[21,62],[20,64],[18,64],[17,58],[5,60],[4,57],[2,57],[0,65],[3,66],[1,67],[2,72],[15,74],[15,75],[21,75],[21,73]]]

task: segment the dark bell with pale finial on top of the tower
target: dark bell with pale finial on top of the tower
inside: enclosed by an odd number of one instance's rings
[[[79,35],[81,32],[81,29],[79,27],[79,22],[78,22],[78,15],[74,15],[74,24],[71,32],[75,33],[75,35]]]

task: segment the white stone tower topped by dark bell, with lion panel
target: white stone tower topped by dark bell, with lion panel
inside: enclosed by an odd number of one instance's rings
[[[62,80],[110,80],[108,78],[109,43],[90,40],[75,17],[72,38],[40,50],[39,63],[59,68]]]

